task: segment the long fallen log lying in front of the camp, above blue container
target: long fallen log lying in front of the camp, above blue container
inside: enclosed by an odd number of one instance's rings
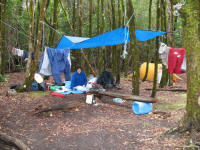
[[[125,99],[125,100],[132,100],[132,101],[140,101],[140,102],[148,102],[148,103],[157,102],[156,98],[130,95],[130,94],[114,93],[114,92],[108,92],[108,91],[91,91],[91,93],[97,94],[97,95],[118,97],[118,98],[122,98],[122,99]]]

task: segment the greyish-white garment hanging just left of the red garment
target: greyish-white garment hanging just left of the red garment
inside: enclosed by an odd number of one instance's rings
[[[169,55],[169,48],[165,43],[160,43],[159,48],[159,57],[162,60],[162,64],[168,68],[168,55]]]

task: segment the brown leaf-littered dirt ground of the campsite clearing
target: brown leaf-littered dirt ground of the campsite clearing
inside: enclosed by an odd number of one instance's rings
[[[186,105],[185,92],[158,91],[153,112],[135,115],[131,102],[116,104],[103,97],[102,104],[85,104],[84,94],[65,98],[49,92],[18,93],[6,96],[10,84],[21,83],[24,73],[8,74],[0,85],[0,130],[22,140],[32,150],[174,150],[187,148],[187,133],[162,136],[177,126]],[[173,89],[186,89],[186,77]],[[131,93],[131,80],[121,79],[119,93]],[[150,96],[152,82],[141,82],[140,95]],[[38,110],[64,105],[69,101],[83,103],[76,109],[36,115]],[[5,149],[0,146],[0,149]]]

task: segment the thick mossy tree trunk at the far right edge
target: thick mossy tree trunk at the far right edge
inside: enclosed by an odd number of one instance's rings
[[[200,1],[187,0],[182,8],[187,59],[187,105],[183,126],[200,131]]]

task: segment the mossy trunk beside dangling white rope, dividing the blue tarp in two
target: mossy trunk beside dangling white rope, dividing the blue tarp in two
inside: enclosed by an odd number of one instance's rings
[[[127,2],[128,18],[131,18],[134,13],[133,2],[128,0]],[[140,86],[140,71],[139,71],[139,50],[136,42],[135,35],[135,15],[133,15],[132,20],[130,21],[130,49],[132,50],[132,68],[133,68],[133,77],[132,77],[132,93],[134,95],[139,95],[139,86]]]

